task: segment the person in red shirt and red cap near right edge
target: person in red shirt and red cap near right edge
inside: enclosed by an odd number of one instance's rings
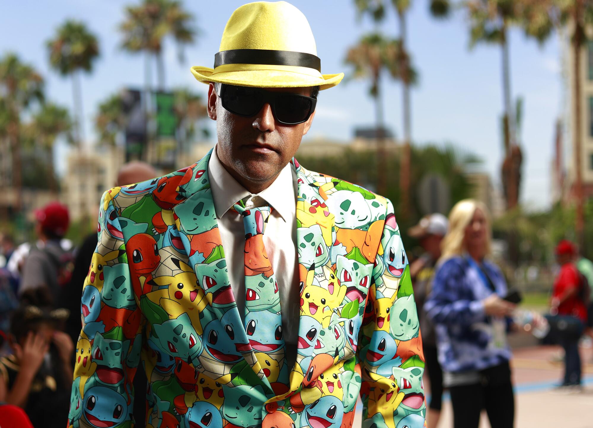
[[[550,302],[550,313],[564,317],[572,317],[580,325],[575,330],[582,331],[587,320],[585,304],[579,296],[582,286],[581,277],[578,274],[573,260],[576,255],[575,245],[562,240],[556,246],[556,261],[560,265],[560,273],[554,281],[552,298]],[[581,356],[579,355],[578,335],[565,334],[560,338],[560,344],[565,350],[565,375],[560,387],[581,386]]]

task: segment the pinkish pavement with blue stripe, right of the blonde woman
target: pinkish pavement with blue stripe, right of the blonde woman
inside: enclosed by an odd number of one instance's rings
[[[554,391],[563,374],[559,346],[514,349],[511,361],[515,386],[515,428],[593,428],[593,348],[581,347],[584,389],[566,394]],[[429,391],[428,376],[424,379]],[[361,426],[362,408],[356,409],[353,428]],[[452,428],[451,401],[445,392],[439,428]],[[490,427],[485,412],[480,428]]]

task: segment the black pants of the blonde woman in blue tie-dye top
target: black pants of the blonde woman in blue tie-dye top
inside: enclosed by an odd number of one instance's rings
[[[486,409],[492,428],[512,428],[515,397],[508,363],[480,372],[482,382],[449,388],[455,428],[477,428]]]

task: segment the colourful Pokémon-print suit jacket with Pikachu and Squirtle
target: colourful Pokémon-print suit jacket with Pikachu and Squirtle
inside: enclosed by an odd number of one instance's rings
[[[144,370],[148,427],[350,427],[359,395],[365,426],[423,427],[422,344],[391,202],[292,159],[301,315],[289,368],[273,288],[247,314],[255,328],[241,322],[209,159],[103,194],[69,426],[132,427]]]

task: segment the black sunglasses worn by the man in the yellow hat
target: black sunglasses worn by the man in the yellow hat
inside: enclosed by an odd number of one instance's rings
[[[272,92],[260,88],[220,84],[222,107],[238,116],[254,116],[270,104],[276,120],[285,125],[307,122],[315,111],[315,98],[292,92]]]

